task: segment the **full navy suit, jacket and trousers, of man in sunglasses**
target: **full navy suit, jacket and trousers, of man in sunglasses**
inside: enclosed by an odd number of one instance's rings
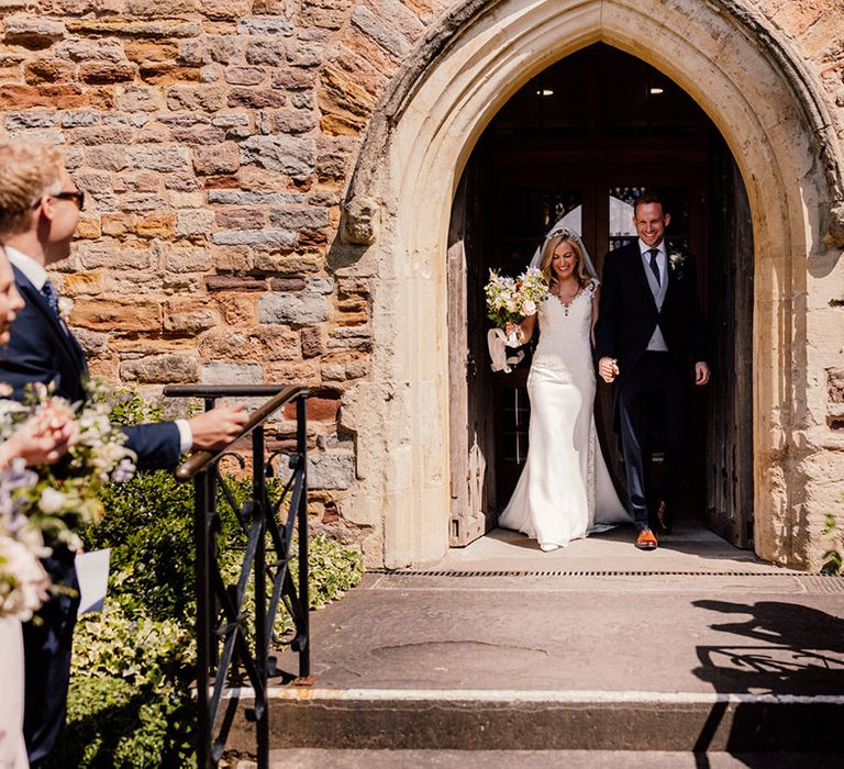
[[[31,382],[55,382],[55,393],[71,402],[86,398],[88,367],[79,343],[62,324],[30,280],[16,267],[14,279],[25,307],[12,325],[11,338],[0,348],[0,382],[22,398]],[[141,469],[175,467],[180,455],[179,430],[174,422],[125,428],[125,445],[137,455]],[[44,567],[55,584],[78,591],[74,554],[54,548]],[[38,612],[42,622],[23,625],[26,698],[23,733],[33,766],[49,755],[67,709],[70,680],[70,647],[77,595],[51,598]]]

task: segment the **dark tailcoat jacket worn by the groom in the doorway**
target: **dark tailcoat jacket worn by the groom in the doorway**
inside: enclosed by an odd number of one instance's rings
[[[645,275],[638,241],[610,252],[603,263],[601,300],[595,327],[595,357],[619,361],[620,374],[613,388],[613,411],[619,392],[634,376],[636,364],[659,325],[675,365],[708,360],[706,324],[698,301],[695,259],[686,252],[675,252],[667,244],[668,288],[663,307],[657,308]],[[671,265],[670,255],[679,254],[680,264]]]

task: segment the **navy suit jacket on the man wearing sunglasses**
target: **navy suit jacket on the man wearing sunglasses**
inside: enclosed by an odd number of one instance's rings
[[[47,301],[16,267],[14,281],[25,307],[12,325],[11,338],[0,347],[0,382],[23,399],[31,382],[55,382],[55,393],[71,403],[86,399],[88,366],[73,334],[62,325]],[[137,455],[142,469],[175,467],[179,461],[179,428],[175,422],[124,428],[126,447]]]

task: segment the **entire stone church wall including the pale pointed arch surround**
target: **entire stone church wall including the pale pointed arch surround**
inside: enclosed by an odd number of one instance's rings
[[[699,160],[710,182],[723,146],[735,169],[723,177],[737,190],[725,210],[741,210],[732,235],[714,247],[709,188],[700,226],[711,275],[718,267],[730,282],[747,266],[730,312],[710,308],[743,319],[724,326],[743,368],[724,370],[718,395],[741,395],[719,412],[736,423],[703,434],[730,448],[718,460],[723,483],[710,478],[703,503],[725,504],[724,521],[737,521],[762,557],[818,567],[825,515],[844,525],[840,2],[176,0],[160,9],[0,0],[1,130],[62,144],[91,198],[59,277],[95,372],[151,390],[318,388],[312,512],[370,564],[433,560],[467,531],[482,533],[502,502],[490,492],[501,449],[473,422],[482,389],[475,370],[486,363],[466,353],[486,328],[476,327],[460,265],[484,265],[471,233],[491,225],[469,182],[498,168],[478,153],[503,146],[488,130],[502,127],[497,115],[511,99],[554,66],[612,49],[693,102],[714,149],[696,160],[677,129],[660,155],[653,114],[644,133],[622,126],[618,146],[647,136],[649,157],[669,158],[660,172],[676,158],[689,168]],[[573,132],[541,147],[560,178],[574,175],[577,146],[585,152]],[[690,209],[690,232],[699,210]],[[713,297],[721,285],[710,285]],[[711,427],[711,404],[701,409]],[[715,454],[701,472],[715,472]],[[721,494],[719,483],[741,493]]]

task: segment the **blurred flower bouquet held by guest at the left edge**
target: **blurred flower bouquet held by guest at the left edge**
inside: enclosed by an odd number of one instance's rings
[[[55,465],[30,470],[15,459],[0,471],[0,616],[25,621],[37,610],[49,584],[38,561],[51,551],[45,540],[78,549],[77,527],[103,514],[102,487],[134,473],[134,455],[109,422],[104,392],[95,386],[84,405],[53,397],[43,384],[26,403],[0,399],[0,441],[32,420],[73,420],[77,427],[74,444]]]

